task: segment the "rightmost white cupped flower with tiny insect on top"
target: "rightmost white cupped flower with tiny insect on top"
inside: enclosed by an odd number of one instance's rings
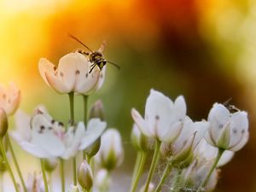
[[[240,150],[249,137],[247,113],[230,111],[222,104],[215,103],[208,115],[211,128],[207,131],[207,143],[231,151]]]

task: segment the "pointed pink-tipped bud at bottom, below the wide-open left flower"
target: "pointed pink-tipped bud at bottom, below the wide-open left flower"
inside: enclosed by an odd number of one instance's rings
[[[83,189],[90,190],[93,185],[93,177],[89,164],[83,160],[78,170],[79,184]]]

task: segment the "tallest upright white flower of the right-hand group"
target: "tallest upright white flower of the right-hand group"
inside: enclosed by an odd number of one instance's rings
[[[131,110],[131,115],[145,136],[171,143],[182,131],[186,103],[183,96],[178,96],[175,102],[172,102],[159,91],[150,90],[146,102],[145,118],[143,119],[134,108]]]

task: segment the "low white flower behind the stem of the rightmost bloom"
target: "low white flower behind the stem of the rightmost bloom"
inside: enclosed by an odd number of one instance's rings
[[[224,166],[225,164],[230,162],[234,154],[235,153],[233,151],[225,150],[224,153],[221,155],[220,160],[218,160],[217,166]],[[212,147],[212,145],[208,144],[205,139],[202,139],[201,142],[196,147],[195,155],[199,159],[213,161],[216,159],[218,155],[218,148]]]

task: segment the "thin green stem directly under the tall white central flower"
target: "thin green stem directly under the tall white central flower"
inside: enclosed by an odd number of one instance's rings
[[[153,173],[154,173],[155,167],[158,162],[159,152],[160,152],[160,141],[155,140],[154,156],[153,156],[153,160],[151,162],[151,166],[150,166],[150,169],[148,172],[148,178],[147,178],[147,182],[145,184],[144,192],[148,192],[148,186],[153,177]]]

